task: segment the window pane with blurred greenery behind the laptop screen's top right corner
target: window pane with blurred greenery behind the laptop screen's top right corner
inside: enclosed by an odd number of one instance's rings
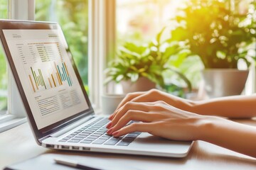
[[[36,0],[36,21],[60,23],[87,89],[87,0]]]

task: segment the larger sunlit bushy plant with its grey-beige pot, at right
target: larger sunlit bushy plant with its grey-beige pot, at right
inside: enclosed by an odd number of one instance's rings
[[[247,45],[255,41],[252,16],[234,13],[230,1],[193,1],[174,18],[178,26],[171,30],[172,41],[189,45],[191,55],[204,64],[203,78],[210,97],[241,94],[248,70],[238,70],[238,61],[247,67]]]

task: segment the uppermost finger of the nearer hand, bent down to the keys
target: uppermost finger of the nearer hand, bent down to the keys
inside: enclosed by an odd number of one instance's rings
[[[122,116],[124,116],[128,111],[134,110],[134,111],[149,111],[149,103],[135,103],[135,102],[128,102],[122,108],[119,109],[116,115],[114,115],[114,118],[112,119],[112,126],[114,126]],[[111,126],[111,127],[112,127]]]

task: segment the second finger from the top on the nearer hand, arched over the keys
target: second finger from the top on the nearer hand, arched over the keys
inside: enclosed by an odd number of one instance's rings
[[[155,117],[156,117],[156,115],[146,113],[144,111],[128,111],[115,125],[112,126],[113,128],[110,131],[110,135],[112,134],[112,132],[115,132],[115,131],[123,128],[131,120],[149,123],[149,122],[154,121]]]

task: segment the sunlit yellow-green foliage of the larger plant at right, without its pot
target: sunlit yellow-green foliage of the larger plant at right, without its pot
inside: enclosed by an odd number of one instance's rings
[[[191,55],[201,57],[206,68],[237,68],[240,59],[249,64],[244,49],[255,41],[256,20],[253,13],[234,13],[229,3],[188,1],[174,18],[178,26],[171,30],[169,42],[186,42]]]

